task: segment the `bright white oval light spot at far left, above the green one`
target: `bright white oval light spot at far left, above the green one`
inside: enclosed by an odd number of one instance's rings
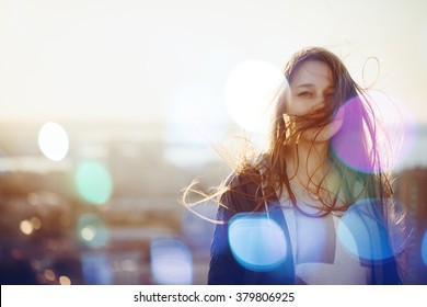
[[[60,161],[69,149],[68,134],[59,124],[47,122],[38,133],[38,147],[46,158]]]

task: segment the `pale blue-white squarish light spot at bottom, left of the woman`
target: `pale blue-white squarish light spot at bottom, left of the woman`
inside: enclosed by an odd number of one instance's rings
[[[193,258],[188,247],[174,238],[153,239],[150,245],[151,274],[159,285],[191,285]]]

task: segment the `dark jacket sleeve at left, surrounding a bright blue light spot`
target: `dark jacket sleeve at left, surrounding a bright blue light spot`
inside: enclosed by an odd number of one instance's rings
[[[209,285],[230,284],[293,284],[295,270],[292,249],[286,220],[280,207],[269,212],[270,217],[284,228],[286,245],[290,247],[285,261],[277,268],[268,271],[253,271],[241,265],[233,257],[229,242],[229,221],[238,213],[253,213],[258,208],[258,200],[262,196],[256,182],[247,181],[241,175],[232,178],[231,190],[221,196],[221,204],[217,213],[217,224],[214,230],[214,238],[210,247],[210,265],[208,273]]]

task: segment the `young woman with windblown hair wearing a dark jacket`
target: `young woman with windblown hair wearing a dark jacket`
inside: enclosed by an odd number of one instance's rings
[[[324,48],[298,52],[284,75],[268,150],[216,194],[208,284],[402,283],[368,96]]]

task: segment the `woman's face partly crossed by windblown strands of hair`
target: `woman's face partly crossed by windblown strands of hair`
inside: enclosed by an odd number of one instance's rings
[[[334,82],[330,67],[318,60],[303,62],[290,80],[290,95],[287,99],[286,114],[295,118],[309,115],[321,117],[325,107],[333,104]],[[343,114],[338,112],[334,121],[326,126],[307,129],[300,139],[309,141],[327,141],[343,125]]]

